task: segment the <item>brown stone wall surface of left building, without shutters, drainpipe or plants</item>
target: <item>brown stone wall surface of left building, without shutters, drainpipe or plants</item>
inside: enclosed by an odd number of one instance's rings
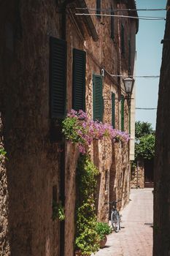
[[[112,1],[104,1],[109,8]],[[87,1],[89,7],[95,1]],[[1,162],[0,214],[2,255],[72,256],[74,250],[75,172],[77,148],[50,140],[49,55],[50,36],[61,38],[61,13],[56,1],[9,1],[1,9],[0,112],[1,143],[7,161]],[[116,1],[114,1],[116,7]],[[123,6],[124,7],[124,6]],[[127,73],[127,54],[120,54],[120,21],[115,19],[115,39],[110,19],[93,16],[98,41],[94,42],[71,10],[66,11],[67,94],[66,110],[72,108],[72,49],[86,51],[86,112],[93,117],[93,73]],[[131,23],[125,20],[128,34]],[[134,26],[134,25],[133,25]],[[133,27],[134,28],[134,27]],[[63,32],[63,30],[62,30]],[[135,34],[135,32],[133,32]],[[131,37],[134,38],[134,34]],[[128,41],[125,41],[125,49]],[[135,49],[134,49],[135,50]],[[111,123],[111,92],[116,97],[115,127],[120,129],[120,90],[123,81],[105,72],[103,78],[104,122]],[[125,94],[124,94],[125,95]],[[125,100],[125,131],[128,132]],[[100,171],[96,211],[98,220],[109,219],[108,201],[128,203],[128,144],[95,141],[90,148]],[[55,192],[55,195],[53,195]],[[52,219],[53,196],[65,201],[66,220]],[[107,203],[107,205],[105,204]],[[61,232],[62,231],[62,232]],[[62,236],[61,236],[62,233]],[[62,255],[63,256],[63,255]]]

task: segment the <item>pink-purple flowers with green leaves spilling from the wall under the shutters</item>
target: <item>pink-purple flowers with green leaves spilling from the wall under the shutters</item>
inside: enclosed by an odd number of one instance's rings
[[[85,148],[90,146],[94,139],[110,138],[113,141],[121,140],[126,143],[130,140],[130,135],[127,132],[113,129],[110,124],[93,121],[82,110],[78,112],[71,110],[67,114],[63,121],[63,134],[66,136],[66,140],[77,144],[82,154],[86,153]]]

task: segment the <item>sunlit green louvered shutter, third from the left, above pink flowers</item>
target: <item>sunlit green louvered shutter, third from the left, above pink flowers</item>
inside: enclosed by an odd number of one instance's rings
[[[93,120],[103,119],[102,76],[93,75]]]

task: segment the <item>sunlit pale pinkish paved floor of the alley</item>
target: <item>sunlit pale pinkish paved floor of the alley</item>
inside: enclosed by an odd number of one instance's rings
[[[152,256],[152,189],[131,189],[130,199],[120,213],[120,232],[107,236],[95,256]]]

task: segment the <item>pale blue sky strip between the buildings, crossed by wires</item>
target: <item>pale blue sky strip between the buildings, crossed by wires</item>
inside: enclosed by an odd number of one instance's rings
[[[166,8],[166,0],[136,0],[137,9]],[[166,11],[138,11],[139,16],[166,17]],[[139,20],[136,34],[136,76],[160,75],[165,20]],[[157,108],[159,78],[136,78],[136,108]],[[155,129],[157,110],[137,110],[136,121]]]

